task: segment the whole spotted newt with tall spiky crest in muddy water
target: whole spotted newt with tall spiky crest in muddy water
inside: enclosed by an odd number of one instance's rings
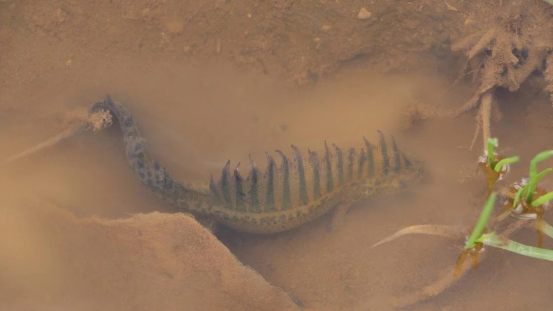
[[[339,226],[351,203],[359,199],[401,191],[424,175],[424,162],[406,157],[393,136],[387,141],[378,131],[379,143],[364,139],[357,152],[343,151],[325,142],[324,154],[308,150],[304,157],[292,145],[291,159],[276,150],[279,166],[267,154],[263,173],[250,156],[250,171],[243,178],[230,161],[216,182],[183,183],[173,180],[158,161],[149,161],[148,142],[140,136],[127,107],[107,96],[90,113],[107,109],[121,125],[127,160],[147,188],[165,202],[192,214],[244,233],[270,234],[290,230],[335,209],[332,226]]]

